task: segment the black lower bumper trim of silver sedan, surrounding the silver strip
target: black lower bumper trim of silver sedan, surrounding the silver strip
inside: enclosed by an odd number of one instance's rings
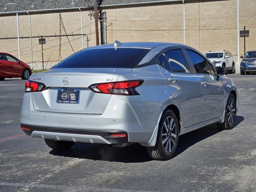
[[[30,128],[30,131],[23,130],[28,136],[31,136],[33,131],[55,132],[55,133],[70,133],[70,134],[82,134],[82,135],[97,135],[105,138],[111,144],[128,143],[128,134],[122,130],[90,130],[90,129],[77,129],[77,128],[59,128],[49,126],[36,126],[28,124],[20,124],[21,127]],[[121,138],[109,138],[111,134],[125,134],[126,137]]]

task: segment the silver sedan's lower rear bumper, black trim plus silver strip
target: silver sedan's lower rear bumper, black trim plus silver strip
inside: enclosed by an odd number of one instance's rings
[[[32,138],[103,144],[128,143],[127,132],[121,130],[84,130],[74,128],[34,126],[28,124],[21,124],[20,126],[29,128],[29,130],[22,130]],[[111,136],[112,134],[122,134],[125,136],[113,137]]]

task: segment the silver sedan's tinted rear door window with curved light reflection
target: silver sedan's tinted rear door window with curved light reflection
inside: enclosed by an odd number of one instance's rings
[[[173,49],[165,52],[172,72],[189,73],[187,62],[180,49]]]

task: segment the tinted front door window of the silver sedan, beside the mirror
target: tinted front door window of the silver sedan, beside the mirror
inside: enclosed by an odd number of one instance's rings
[[[207,61],[202,56],[200,56],[196,52],[194,52],[192,50],[188,50],[188,49],[187,49],[187,54],[189,55],[189,57],[192,61],[192,64],[194,65],[194,67],[196,69],[196,73],[211,74],[210,68],[207,64]]]

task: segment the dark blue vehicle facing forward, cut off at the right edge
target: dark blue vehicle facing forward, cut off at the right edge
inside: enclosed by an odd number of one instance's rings
[[[240,64],[241,75],[256,72],[256,51],[248,51],[241,58],[243,59]]]

